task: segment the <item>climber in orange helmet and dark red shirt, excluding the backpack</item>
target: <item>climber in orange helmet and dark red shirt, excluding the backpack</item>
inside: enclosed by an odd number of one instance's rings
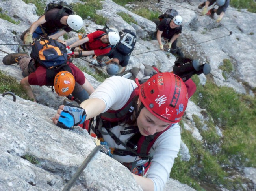
[[[94,91],[93,86],[85,78],[83,72],[72,62],[68,62],[67,65],[57,70],[51,70],[35,62],[28,53],[12,53],[3,58],[3,63],[5,65],[17,63],[20,66],[22,76],[24,77],[20,84],[26,89],[28,96],[34,102],[37,102],[37,100],[33,95],[31,85],[54,85],[58,95],[68,96],[72,94],[74,98],[80,101],[89,98],[89,95]],[[59,72],[63,74],[61,75]],[[57,76],[59,77],[57,78]],[[58,80],[58,83],[56,83],[56,80]]]

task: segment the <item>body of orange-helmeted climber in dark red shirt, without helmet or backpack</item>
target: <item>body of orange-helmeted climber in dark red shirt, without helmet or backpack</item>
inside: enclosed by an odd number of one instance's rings
[[[19,64],[22,71],[22,76],[24,77],[20,81],[20,84],[24,87],[24,89],[26,89],[28,96],[34,102],[37,102],[37,100],[33,95],[31,85],[53,86],[54,78],[60,71],[68,71],[74,76],[75,86],[74,90],[72,91],[72,96],[81,102],[88,99],[89,95],[91,95],[91,93],[93,93],[95,90],[90,82],[85,78],[83,72],[72,62],[67,62],[67,65],[59,69],[51,70],[43,67],[43,65],[40,65],[33,60],[30,60],[31,58],[28,53],[12,53],[3,58],[3,63],[5,65],[15,63]]]

